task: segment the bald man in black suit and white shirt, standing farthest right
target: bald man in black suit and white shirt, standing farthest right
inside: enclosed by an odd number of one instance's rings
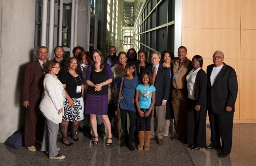
[[[220,148],[219,157],[226,157],[231,152],[238,90],[236,71],[223,61],[223,52],[215,51],[214,64],[207,67],[207,107],[211,125],[211,144],[206,149]]]

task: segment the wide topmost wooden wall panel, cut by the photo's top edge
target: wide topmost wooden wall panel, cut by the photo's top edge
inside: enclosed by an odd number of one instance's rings
[[[182,27],[240,29],[241,0],[182,0]]]

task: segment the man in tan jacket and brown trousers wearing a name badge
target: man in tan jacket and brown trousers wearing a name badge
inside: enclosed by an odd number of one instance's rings
[[[178,48],[178,57],[172,60],[173,67],[173,90],[171,92],[171,102],[174,111],[174,128],[176,134],[172,140],[184,137],[187,142],[187,83],[186,76],[192,69],[191,60],[187,58],[187,49],[184,46]]]

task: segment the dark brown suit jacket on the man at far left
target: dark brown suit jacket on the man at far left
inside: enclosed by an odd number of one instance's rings
[[[43,94],[45,74],[38,60],[26,64],[22,87],[22,101],[29,101],[29,107],[39,107]]]

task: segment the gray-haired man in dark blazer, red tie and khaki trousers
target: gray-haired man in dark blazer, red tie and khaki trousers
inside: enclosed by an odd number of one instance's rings
[[[171,79],[170,69],[160,65],[161,54],[153,52],[150,56],[152,65],[145,68],[152,73],[153,85],[156,88],[156,101],[152,111],[151,119],[151,137],[155,135],[158,138],[157,143],[163,144],[163,135],[165,132],[165,110],[166,102],[169,99]],[[157,119],[157,125],[154,125],[154,117]],[[156,127],[156,132],[154,128]]]

